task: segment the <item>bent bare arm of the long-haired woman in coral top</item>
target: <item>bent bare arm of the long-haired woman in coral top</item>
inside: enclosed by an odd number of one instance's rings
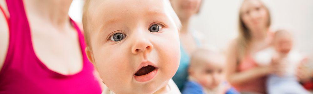
[[[250,70],[239,72],[237,70],[238,67],[238,49],[237,49],[236,41],[233,41],[229,48],[227,54],[227,70],[226,70],[226,77],[229,83],[232,85],[241,85],[244,82],[257,79],[259,77],[268,75],[270,73],[270,67],[268,66],[260,66],[255,67]]]

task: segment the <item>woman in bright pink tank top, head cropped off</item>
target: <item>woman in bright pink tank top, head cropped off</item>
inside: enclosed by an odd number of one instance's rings
[[[0,28],[0,37],[8,38],[0,40],[0,94],[101,93],[83,35],[67,15],[70,4],[71,0],[0,2],[0,24],[9,27]]]

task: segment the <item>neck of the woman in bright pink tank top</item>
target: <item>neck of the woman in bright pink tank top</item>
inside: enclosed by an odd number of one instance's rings
[[[54,27],[64,28],[69,24],[69,7],[72,0],[24,0],[29,14],[48,21]]]

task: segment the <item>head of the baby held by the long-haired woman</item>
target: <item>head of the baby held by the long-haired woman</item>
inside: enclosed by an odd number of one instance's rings
[[[292,49],[292,35],[287,30],[277,30],[274,35],[274,48],[281,54],[288,54]]]

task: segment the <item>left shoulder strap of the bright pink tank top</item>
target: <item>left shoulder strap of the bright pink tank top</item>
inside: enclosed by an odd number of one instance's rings
[[[32,50],[30,28],[23,0],[6,0],[6,3],[10,14],[9,47],[0,75],[12,65],[11,62],[23,61],[25,55],[31,57],[27,53],[31,53]]]

